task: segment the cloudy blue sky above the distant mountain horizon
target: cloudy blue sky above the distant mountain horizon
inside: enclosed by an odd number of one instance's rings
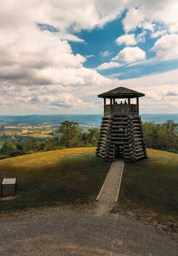
[[[103,114],[97,95],[145,93],[178,113],[177,0],[11,0],[0,8],[0,115]]]

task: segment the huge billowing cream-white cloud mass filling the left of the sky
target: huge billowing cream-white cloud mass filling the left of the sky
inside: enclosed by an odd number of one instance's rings
[[[109,85],[111,80],[84,68],[83,63],[94,55],[74,55],[69,41],[83,43],[73,33],[92,29],[101,19],[93,1],[2,1],[1,105],[13,109],[28,106],[27,109],[35,111],[46,107],[94,107],[91,101],[85,102],[75,95],[76,91],[80,86]]]

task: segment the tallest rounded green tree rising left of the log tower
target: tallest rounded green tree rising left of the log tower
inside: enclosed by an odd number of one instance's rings
[[[59,127],[59,144],[65,147],[79,146],[82,141],[82,130],[78,123],[64,121]]]

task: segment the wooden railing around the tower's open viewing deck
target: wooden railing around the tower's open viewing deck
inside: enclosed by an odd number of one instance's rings
[[[137,104],[113,104],[104,105],[104,115],[138,115]]]

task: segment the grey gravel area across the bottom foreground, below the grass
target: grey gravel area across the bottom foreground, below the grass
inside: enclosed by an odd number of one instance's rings
[[[59,210],[1,222],[1,256],[176,256],[178,243],[127,215]]]

